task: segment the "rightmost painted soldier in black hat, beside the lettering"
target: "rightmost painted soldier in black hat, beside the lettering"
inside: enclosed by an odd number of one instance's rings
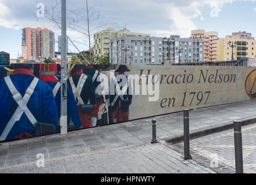
[[[118,75],[125,76],[126,79],[125,86],[119,86],[119,84],[124,83],[122,82],[122,78],[120,79],[120,82],[115,79],[115,89],[120,92],[118,94],[115,92],[115,95],[110,95],[113,117],[118,123],[129,120],[129,107],[133,98],[132,95],[129,95],[130,79],[125,75],[125,72],[129,71],[130,69],[127,65],[118,65],[118,68],[115,69],[115,72],[118,72]]]

